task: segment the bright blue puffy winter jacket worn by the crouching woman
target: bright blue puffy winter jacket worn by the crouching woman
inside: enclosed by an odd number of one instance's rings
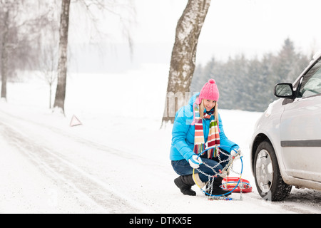
[[[190,157],[195,155],[193,152],[195,126],[191,125],[191,123],[194,119],[193,104],[195,103],[195,99],[198,95],[199,93],[190,98],[188,105],[180,108],[175,115],[175,121],[172,130],[172,145],[170,147],[170,160],[189,160]],[[220,115],[218,115],[218,121],[218,127],[220,129],[220,145],[228,146],[222,147],[222,149],[230,152],[231,149],[229,147],[233,147],[233,149],[238,150],[238,145],[235,144],[235,142],[228,140],[228,138],[225,136]],[[210,130],[209,125],[210,120],[203,119],[205,143],[208,140],[208,132]]]

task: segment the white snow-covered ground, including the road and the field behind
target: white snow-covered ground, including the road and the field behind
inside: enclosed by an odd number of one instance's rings
[[[321,192],[292,189],[265,202],[249,167],[261,113],[220,110],[226,135],[243,150],[243,200],[182,195],[173,180],[171,126],[160,129],[168,68],[116,75],[71,74],[66,116],[51,113],[39,80],[9,83],[0,103],[0,213],[320,213]],[[71,117],[82,125],[70,127]],[[238,193],[232,197],[239,199]]]

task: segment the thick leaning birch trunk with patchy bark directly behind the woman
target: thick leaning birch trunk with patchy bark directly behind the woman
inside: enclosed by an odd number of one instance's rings
[[[195,69],[196,48],[200,30],[211,0],[188,0],[178,20],[175,43],[170,60],[170,72],[162,125],[174,122],[175,113],[190,98],[190,83]],[[176,101],[177,100],[177,101]]]

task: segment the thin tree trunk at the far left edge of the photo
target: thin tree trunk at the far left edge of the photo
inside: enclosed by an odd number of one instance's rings
[[[4,31],[1,43],[1,99],[6,100],[6,78],[8,76],[9,9],[4,14]]]

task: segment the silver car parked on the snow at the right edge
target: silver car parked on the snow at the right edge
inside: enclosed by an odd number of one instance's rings
[[[250,160],[258,193],[281,201],[292,185],[321,190],[321,53],[294,83],[278,83],[255,125]]]

